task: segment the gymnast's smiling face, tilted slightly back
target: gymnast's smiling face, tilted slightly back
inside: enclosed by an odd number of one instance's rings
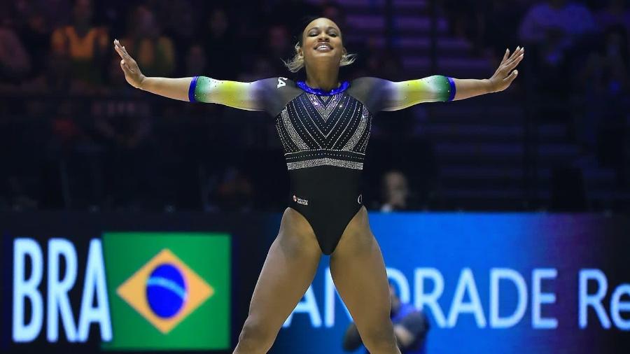
[[[311,21],[302,32],[302,46],[298,53],[304,56],[306,66],[318,61],[339,64],[346,49],[337,24],[325,17]]]

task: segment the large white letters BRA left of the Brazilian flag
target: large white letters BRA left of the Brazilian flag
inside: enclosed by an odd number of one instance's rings
[[[31,276],[25,278],[27,258],[31,260]],[[59,269],[61,260],[65,269]],[[13,341],[25,343],[34,341],[43,325],[43,297],[38,290],[43,278],[43,252],[34,239],[18,238],[13,241]],[[59,340],[59,316],[66,339],[87,341],[90,323],[98,323],[103,341],[112,337],[109,302],[105,283],[105,265],[101,241],[92,239],[87,253],[83,294],[81,297],[78,328],[75,325],[68,293],[76,284],[78,274],[77,254],[73,243],[67,239],[48,241],[48,287],[46,289],[46,339]],[[60,279],[60,275],[64,278]],[[92,307],[94,295],[96,307]],[[25,323],[27,299],[31,304],[31,320]]]

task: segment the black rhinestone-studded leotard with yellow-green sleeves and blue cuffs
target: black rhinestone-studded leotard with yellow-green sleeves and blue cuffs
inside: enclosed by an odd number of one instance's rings
[[[330,92],[286,78],[235,83],[200,77],[191,83],[190,100],[264,109],[276,118],[290,176],[289,206],[304,215],[321,251],[330,255],[363,205],[359,184],[372,113],[447,101],[454,89],[444,76],[400,83],[358,78]]]

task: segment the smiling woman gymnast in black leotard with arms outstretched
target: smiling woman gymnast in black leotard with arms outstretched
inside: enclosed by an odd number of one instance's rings
[[[372,117],[421,102],[466,99],[505,90],[524,57],[505,52],[486,80],[430,76],[391,82],[358,78],[339,82],[351,64],[335,22],[320,17],[304,27],[290,71],[306,81],[267,78],[253,83],[194,78],[148,78],[125,47],[114,42],[127,82],[182,101],[267,111],[276,120],[290,176],[288,208],[252,295],[235,354],[267,353],[313,281],[322,254],[339,295],[372,354],[400,353],[390,316],[389,287],[381,250],[367,222],[359,190]]]

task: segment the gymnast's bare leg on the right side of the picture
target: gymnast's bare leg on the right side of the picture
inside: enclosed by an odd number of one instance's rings
[[[400,354],[389,318],[391,299],[383,255],[370,231],[365,207],[349,222],[330,272],[363,344],[372,354]]]

